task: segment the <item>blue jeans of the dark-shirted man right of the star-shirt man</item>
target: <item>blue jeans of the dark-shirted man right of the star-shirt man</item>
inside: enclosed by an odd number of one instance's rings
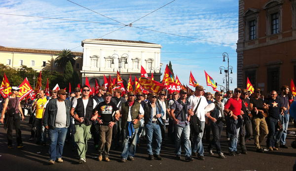
[[[289,124],[289,114],[288,110],[284,111],[284,115],[280,114],[280,121],[282,122],[283,129],[278,131],[278,134],[276,136],[276,142],[280,142],[280,145],[286,144],[286,137],[287,137],[287,129]]]

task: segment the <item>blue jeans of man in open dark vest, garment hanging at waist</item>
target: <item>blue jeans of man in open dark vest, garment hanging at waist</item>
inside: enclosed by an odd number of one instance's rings
[[[136,142],[139,128],[135,129],[135,134],[131,138],[128,138],[128,128],[122,129],[123,144],[121,157],[127,159],[128,157],[134,157],[136,154]],[[129,142],[130,141],[130,142]]]

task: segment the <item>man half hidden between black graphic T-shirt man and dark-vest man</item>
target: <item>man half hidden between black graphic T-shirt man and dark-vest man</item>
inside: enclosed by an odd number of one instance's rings
[[[115,88],[114,90],[114,96],[111,98],[111,102],[113,102],[116,107],[119,110],[120,113],[120,109],[121,109],[121,105],[123,103],[126,102],[126,99],[121,97],[121,89],[120,88]],[[112,137],[113,137],[113,142],[114,142],[114,149],[117,149],[120,145],[119,145],[119,140],[120,140],[120,136],[121,136],[121,116],[119,117],[118,122],[115,122],[115,125],[113,126],[112,129]]]

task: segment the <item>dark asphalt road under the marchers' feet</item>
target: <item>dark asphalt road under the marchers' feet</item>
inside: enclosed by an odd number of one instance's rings
[[[161,147],[160,155],[162,161],[149,161],[147,154],[146,142],[142,141],[140,147],[137,147],[135,161],[126,161],[121,163],[120,149],[110,151],[110,162],[99,162],[97,160],[98,152],[94,150],[93,139],[88,142],[88,151],[86,153],[86,163],[78,164],[77,152],[72,151],[72,145],[65,144],[63,153],[63,163],[55,163],[48,165],[48,144],[40,146],[35,141],[29,141],[31,134],[31,124],[28,123],[29,117],[25,117],[25,121],[21,121],[22,140],[26,145],[23,149],[16,146],[15,132],[13,145],[14,148],[7,148],[6,131],[3,125],[0,125],[0,171],[127,171],[127,170],[162,170],[162,171],[292,171],[296,160],[296,149],[291,147],[291,142],[295,140],[295,136],[288,135],[286,144],[288,149],[279,148],[278,151],[266,151],[257,153],[254,141],[247,142],[248,154],[239,156],[229,156],[227,153],[227,142],[225,132],[223,131],[221,146],[225,159],[219,159],[215,151],[215,155],[210,156],[205,152],[205,160],[197,160],[193,156],[193,162],[184,161],[184,149],[182,152],[182,160],[175,159],[175,146],[166,139],[166,145]],[[292,123],[289,125],[292,128]],[[207,147],[207,143],[203,143]],[[265,145],[265,141],[262,145]],[[265,146],[264,146],[265,147]],[[239,148],[238,148],[239,149]],[[240,150],[239,150],[240,151]]]

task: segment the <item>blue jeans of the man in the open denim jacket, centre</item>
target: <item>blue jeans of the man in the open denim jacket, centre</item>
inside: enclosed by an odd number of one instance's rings
[[[157,123],[148,123],[146,124],[146,135],[147,135],[147,150],[148,154],[152,155],[152,138],[155,137],[155,155],[159,155],[160,153],[160,146],[161,146],[161,130],[160,126]]]

